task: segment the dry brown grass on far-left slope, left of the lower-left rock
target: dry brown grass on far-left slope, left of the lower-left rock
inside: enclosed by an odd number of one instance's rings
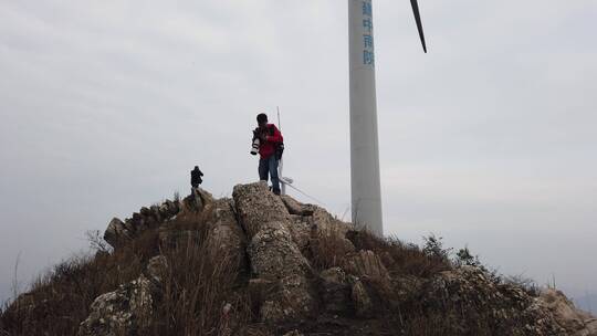
[[[10,335],[76,335],[95,297],[137,277],[155,253],[155,231],[148,231],[114,254],[73,256],[40,275],[28,294],[7,307],[2,328]]]

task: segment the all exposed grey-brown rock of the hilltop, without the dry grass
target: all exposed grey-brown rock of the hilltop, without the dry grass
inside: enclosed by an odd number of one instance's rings
[[[240,335],[302,335],[295,327],[318,315],[343,326],[337,318],[366,322],[383,309],[411,305],[423,315],[439,312],[434,316],[450,327],[446,335],[470,335],[471,321],[483,321],[495,335],[597,336],[597,319],[557,291],[537,296],[473,266],[448,266],[425,279],[400,274],[400,255],[370,248],[370,235],[321,207],[273,195],[265,182],[235,186],[232,199],[198,189],[180,202],[143,208],[125,221],[113,219],[105,238],[121,248],[148,229],[159,232],[161,248],[205,244],[200,251],[211,264],[231,262],[243,274],[239,286],[245,286],[260,323]],[[314,259],[317,253],[328,253],[325,263]],[[167,271],[166,258],[158,255],[138,279],[98,296],[78,336],[139,335],[153,318]],[[234,334],[233,312],[230,303],[222,306],[220,335]]]

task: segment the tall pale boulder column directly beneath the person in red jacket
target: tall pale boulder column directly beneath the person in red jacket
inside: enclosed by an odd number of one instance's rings
[[[304,318],[315,305],[307,280],[312,270],[292,239],[286,207],[268,191],[265,182],[235,186],[232,196],[250,239],[251,273],[256,279],[275,282],[279,288],[264,297],[261,319],[277,323]]]

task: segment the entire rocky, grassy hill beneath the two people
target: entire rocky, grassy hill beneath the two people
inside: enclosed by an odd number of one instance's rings
[[[143,208],[104,238],[113,251],[55,266],[6,307],[0,335],[597,336],[558,291],[380,240],[264,182]]]

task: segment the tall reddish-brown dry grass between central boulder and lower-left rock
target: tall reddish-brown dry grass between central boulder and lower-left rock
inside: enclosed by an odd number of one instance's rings
[[[157,318],[145,335],[224,335],[251,318],[238,260],[211,255],[205,232],[199,232],[197,239],[198,243],[163,251],[168,260],[163,275],[164,294]]]

